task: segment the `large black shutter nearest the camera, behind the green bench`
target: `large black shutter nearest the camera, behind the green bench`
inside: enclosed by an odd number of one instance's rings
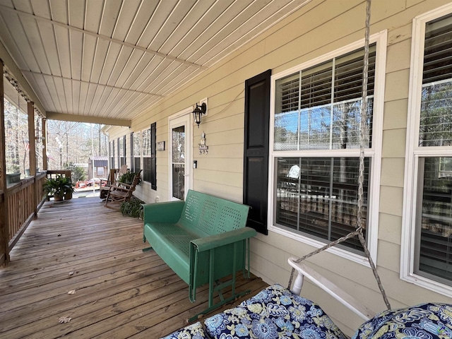
[[[243,203],[251,206],[247,226],[268,234],[268,134],[271,70],[245,82]]]

